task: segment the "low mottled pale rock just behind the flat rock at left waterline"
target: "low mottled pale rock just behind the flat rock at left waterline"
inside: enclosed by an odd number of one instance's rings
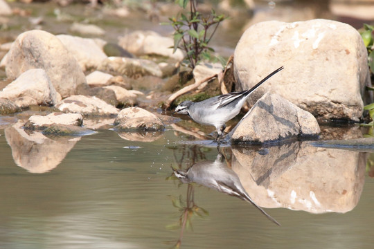
[[[81,113],[84,116],[114,116],[118,109],[104,100],[84,95],[73,95],[55,105],[57,109],[69,113]]]

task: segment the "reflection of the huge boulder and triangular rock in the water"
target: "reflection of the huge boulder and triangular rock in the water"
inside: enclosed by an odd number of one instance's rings
[[[344,213],[359,201],[365,162],[357,151],[295,142],[260,151],[233,149],[231,166],[262,207]]]

